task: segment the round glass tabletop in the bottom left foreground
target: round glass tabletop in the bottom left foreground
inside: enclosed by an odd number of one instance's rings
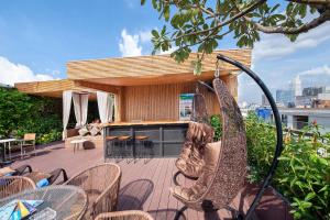
[[[48,186],[26,190],[0,200],[0,207],[8,202],[20,200],[43,200],[36,207],[37,212],[51,208],[56,212],[56,219],[80,219],[87,209],[86,193],[75,186]]]

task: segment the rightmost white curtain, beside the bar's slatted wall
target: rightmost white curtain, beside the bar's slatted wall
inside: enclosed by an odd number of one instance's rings
[[[113,96],[108,92],[97,91],[97,98],[101,122],[111,122],[113,117]]]

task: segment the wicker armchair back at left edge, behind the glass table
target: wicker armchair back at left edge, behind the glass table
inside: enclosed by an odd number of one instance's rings
[[[6,176],[0,178],[0,199],[8,196],[28,190],[35,189],[33,180],[23,176]]]

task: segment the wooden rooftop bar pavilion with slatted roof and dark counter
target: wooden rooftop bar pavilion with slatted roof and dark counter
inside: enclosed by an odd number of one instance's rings
[[[66,65],[67,79],[21,82],[15,87],[34,96],[63,98],[66,117],[73,99],[80,128],[89,123],[82,120],[87,118],[86,98],[97,100],[102,135],[84,139],[88,139],[95,147],[103,147],[106,157],[113,156],[112,150],[117,146],[123,150],[121,156],[141,156],[141,145],[152,148],[150,154],[155,157],[177,156],[190,119],[191,96],[198,90],[205,97],[208,114],[220,113],[216,95],[198,86],[199,80],[211,82],[218,53],[246,66],[251,65],[251,50],[216,51],[206,55],[202,73],[198,76],[193,74],[191,62],[197,57],[195,53],[182,64],[176,63],[170,55],[72,61]],[[220,78],[231,96],[237,98],[239,69],[221,62],[219,66]],[[102,94],[103,99],[99,99],[99,94]],[[111,101],[106,101],[108,98],[105,96],[111,98]],[[105,108],[111,112],[105,113]],[[77,109],[80,110],[78,116]],[[64,128],[67,128],[66,123]],[[72,145],[74,139],[79,139],[77,129],[74,132],[66,130],[64,135],[66,147]]]

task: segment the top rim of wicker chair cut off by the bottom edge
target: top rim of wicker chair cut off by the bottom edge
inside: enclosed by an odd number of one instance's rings
[[[95,220],[153,220],[153,218],[144,211],[129,210],[100,213]]]

